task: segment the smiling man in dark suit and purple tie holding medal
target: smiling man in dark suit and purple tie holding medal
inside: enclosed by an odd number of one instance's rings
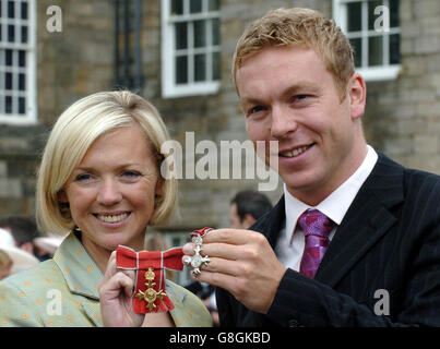
[[[439,177],[367,145],[340,28],[272,11],[239,39],[233,74],[249,137],[278,142],[284,196],[250,230],[203,239],[198,278],[222,288],[221,325],[440,326]]]

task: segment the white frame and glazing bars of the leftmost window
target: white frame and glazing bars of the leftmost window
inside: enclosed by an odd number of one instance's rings
[[[1,43],[0,41],[0,49],[7,50],[12,49],[14,51],[24,50],[26,52],[26,88],[24,91],[24,95],[26,98],[26,106],[25,106],[25,113],[1,113],[0,112],[0,123],[2,124],[12,124],[12,125],[22,125],[22,124],[35,124],[37,123],[37,83],[36,83],[36,75],[37,75],[37,62],[36,62],[36,34],[37,34],[37,11],[36,11],[36,1],[35,0],[27,0],[27,20],[17,20],[16,14],[19,13],[19,8],[16,4],[22,3],[23,1],[15,2],[15,19],[10,20],[3,16],[0,21],[0,25],[2,25],[2,33],[5,35],[5,28],[8,24],[13,23],[16,26],[21,24],[27,25],[27,43],[26,44],[17,44],[17,43]],[[5,14],[5,10],[8,7],[8,1],[2,1],[3,4],[2,13]],[[14,72],[17,69],[17,65],[14,64],[11,68],[11,72]],[[5,89],[4,89],[5,91]],[[16,91],[12,89],[12,95],[16,95]],[[0,94],[1,97],[4,94]]]

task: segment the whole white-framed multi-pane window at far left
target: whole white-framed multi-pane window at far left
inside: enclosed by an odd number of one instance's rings
[[[36,121],[35,0],[0,0],[0,122]]]

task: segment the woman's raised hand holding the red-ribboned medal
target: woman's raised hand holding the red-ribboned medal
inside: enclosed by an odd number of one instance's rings
[[[135,286],[134,270],[116,268],[116,252],[112,252],[99,286],[100,313],[106,327],[140,327],[143,314],[132,311],[131,296]]]

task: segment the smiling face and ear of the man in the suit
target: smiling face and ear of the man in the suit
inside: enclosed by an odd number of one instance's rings
[[[266,149],[270,141],[278,141],[275,170],[288,191],[308,204],[341,185],[367,152],[359,120],[365,84],[354,76],[341,101],[319,56],[298,47],[265,48],[237,71],[249,137],[254,144],[266,142]]]

